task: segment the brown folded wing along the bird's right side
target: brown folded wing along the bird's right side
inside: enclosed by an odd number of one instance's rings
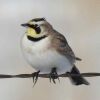
[[[71,62],[75,62],[75,60],[77,60],[76,58],[78,57],[75,57],[74,52],[72,51],[72,49],[68,45],[67,40],[62,34],[57,33],[57,32],[54,34],[52,38],[52,46],[58,52],[66,56]]]

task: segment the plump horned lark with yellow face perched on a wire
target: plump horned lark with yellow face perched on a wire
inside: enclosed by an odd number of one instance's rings
[[[34,18],[21,26],[26,28],[21,38],[21,49],[26,61],[36,70],[33,73],[35,83],[39,73],[49,74],[54,83],[59,79],[58,75],[66,73],[72,84],[89,85],[75,65],[81,59],[75,56],[65,36],[45,18]]]

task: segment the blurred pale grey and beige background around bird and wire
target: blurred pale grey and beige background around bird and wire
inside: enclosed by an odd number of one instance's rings
[[[82,58],[81,72],[100,72],[100,0],[0,0],[0,74],[32,73],[24,60],[20,40],[25,29],[20,24],[45,17],[64,34]],[[0,79],[0,100],[99,100],[100,77],[87,78],[90,86],[73,86],[69,79],[50,84],[39,78]]]

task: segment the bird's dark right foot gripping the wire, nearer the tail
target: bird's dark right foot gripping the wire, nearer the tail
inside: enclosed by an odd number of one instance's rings
[[[51,73],[49,75],[50,75],[49,76],[50,77],[50,82],[52,80],[53,83],[56,84],[55,79],[58,79],[59,80],[59,77],[58,77],[58,74],[57,74],[57,69],[55,67],[51,69]]]

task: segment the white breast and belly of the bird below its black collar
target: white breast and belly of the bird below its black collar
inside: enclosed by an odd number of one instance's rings
[[[22,42],[22,50],[29,64],[37,71],[40,70],[41,73],[50,73],[53,67],[57,68],[58,74],[70,72],[72,64],[65,56],[59,54],[54,49],[44,49],[48,45],[47,41],[30,45],[24,39]]]

